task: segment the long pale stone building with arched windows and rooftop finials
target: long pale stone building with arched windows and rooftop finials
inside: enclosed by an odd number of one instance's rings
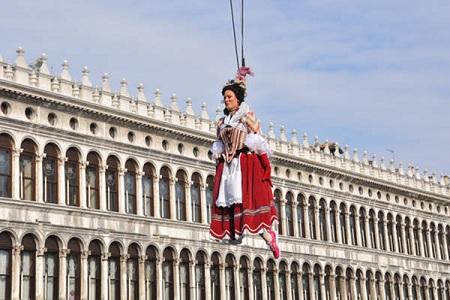
[[[0,57],[0,299],[450,300],[448,177],[270,126],[274,260],[210,240],[215,120],[170,101]]]

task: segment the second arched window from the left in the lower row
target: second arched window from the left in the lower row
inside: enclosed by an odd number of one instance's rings
[[[31,234],[22,239],[20,299],[34,299],[36,291],[36,242]]]

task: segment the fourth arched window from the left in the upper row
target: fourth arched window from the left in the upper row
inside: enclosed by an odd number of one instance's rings
[[[66,200],[67,205],[80,206],[80,153],[70,148],[66,153],[67,161],[64,164],[66,172]]]

